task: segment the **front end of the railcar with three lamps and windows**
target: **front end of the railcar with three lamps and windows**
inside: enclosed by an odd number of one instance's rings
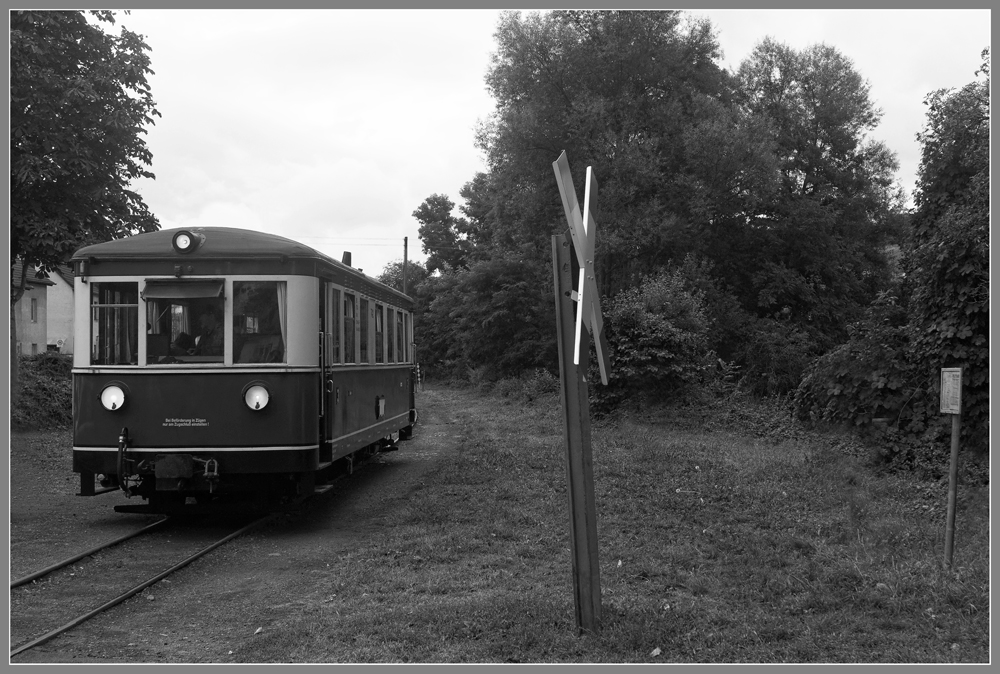
[[[173,507],[311,489],[319,455],[315,251],[206,228],[80,250],[73,470]],[[120,508],[121,509],[121,508]]]

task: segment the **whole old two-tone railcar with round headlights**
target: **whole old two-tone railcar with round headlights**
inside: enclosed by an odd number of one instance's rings
[[[349,254],[204,227],[71,262],[81,495],[141,497],[125,512],[273,504],[412,433],[412,300]]]

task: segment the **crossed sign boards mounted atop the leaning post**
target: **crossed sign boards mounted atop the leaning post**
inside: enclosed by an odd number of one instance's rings
[[[604,337],[604,318],[601,315],[601,296],[597,292],[597,279],[594,277],[594,239],[597,236],[597,220],[594,210],[597,209],[597,178],[590,166],[587,167],[587,184],[583,195],[583,214],[580,214],[580,202],[576,198],[576,188],[573,186],[573,176],[569,172],[569,160],[566,151],[559,159],[552,162],[559,184],[559,196],[562,197],[566,220],[569,222],[569,233],[573,238],[573,248],[576,259],[580,263],[580,282],[578,290],[573,292],[573,300],[579,302],[576,312],[576,339],[573,350],[573,363],[580,364],[580,349],[583,343],[583,326],[594,337],[597,350],[597,362],[601,368],[601,383],[608,384],[608,354],[607,342]]]

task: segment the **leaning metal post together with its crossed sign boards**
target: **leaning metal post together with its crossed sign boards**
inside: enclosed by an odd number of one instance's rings
[[[587,390],[589,340],[583,343],[583,326],[594,336],[601,370],[607,384],[607,340],[600,297],[594,277],[594,234],[597,223],[591,204],[597,200],[597,181],[587,167],[586,210],[581,216],[566,153],[553,162],[559,194],[569,221],[572,248],[580,265],[578,290],[573,289],[570,242],[563,234],[552,237],[552,266],[559,341],[559,375],[562,388],[566,475],[570,502],[570,545],[573,557],[573,592],[576,625],[596,634],[601,621],[601,579],[597,552],[597,506],[594,498],[594,465],[590,446],[590,400]],[[576,319],[573,303],[578,302]],[[575,323],[575,325],[574,325]]]

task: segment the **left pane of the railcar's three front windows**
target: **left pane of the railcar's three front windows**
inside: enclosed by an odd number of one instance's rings
[[[135,365],[139,358],[139,284],[90,284],[90,362]]]

